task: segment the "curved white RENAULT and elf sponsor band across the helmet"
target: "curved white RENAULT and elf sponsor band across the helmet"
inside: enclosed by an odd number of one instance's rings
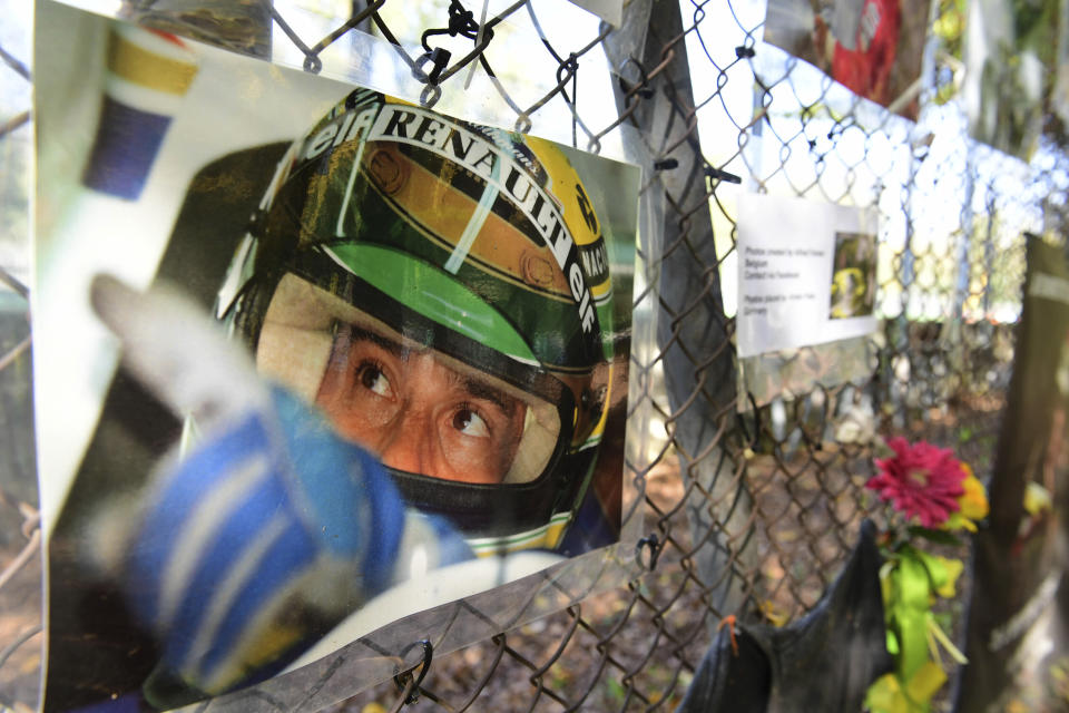
[[[459,164],[475,174],[511,203],[531,222],[542,244],[550,248],[563,272],[571,297],[579,310],[583,333],[594,335],[597,313],[583,274],[580,251],[565,223],[557,199],[508,152],[448,117],[418,107],[382,104],[361,111],[346,111],[322,125],[305,140],[298,156],[306,163],[353,140],[390,141],[415,146]],[[580,209],[589,226],[597,218],[586,194],[580,191]],[[583,206],[586,206],[585,209]],[[596,232],[596,231],[595,231]]]

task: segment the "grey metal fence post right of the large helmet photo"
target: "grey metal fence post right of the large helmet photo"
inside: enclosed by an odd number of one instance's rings
[[[621,72],[620,113],[639,102],[630,118],[647,144],[647,180],[665,196],[664,252],[650,258],[660,258],[657,331],[669,428],[687,488],[692,538],[696,546],[704,544],[693,555],[696,570],[723,615],[737,611],[743,599],[733,570],[749,507],[742,480],[732,477],[738,473],[719,430],[735,404],[733,325],[720,300],[686,33],[675,2],[632,2],[624,27],[606,40],[606,53]],[[656,69],[644,76],[638,66]]]

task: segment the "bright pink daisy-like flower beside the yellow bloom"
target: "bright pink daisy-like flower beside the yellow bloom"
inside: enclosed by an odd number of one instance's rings
[[[916,518],[923,527],[935,528],[961,507],[968,473],[949,448],[936,448],[925,441],[911,446],[904,438],[892,438],[887,446],[894,457],[876,460],[880,473],[865,484],[891,501],[908,518]]]

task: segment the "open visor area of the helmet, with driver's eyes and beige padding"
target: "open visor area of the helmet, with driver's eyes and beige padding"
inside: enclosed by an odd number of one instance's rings
[[[522,484],[546,470],[560,406],[523,391],[287,273],[264,318],[259,370],[315,402],[396,470]]]

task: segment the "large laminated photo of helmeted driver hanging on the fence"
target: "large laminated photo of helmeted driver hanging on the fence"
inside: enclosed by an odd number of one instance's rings
[[[234,692],[620,539],[637,168],[37,33],[45,710]]]

